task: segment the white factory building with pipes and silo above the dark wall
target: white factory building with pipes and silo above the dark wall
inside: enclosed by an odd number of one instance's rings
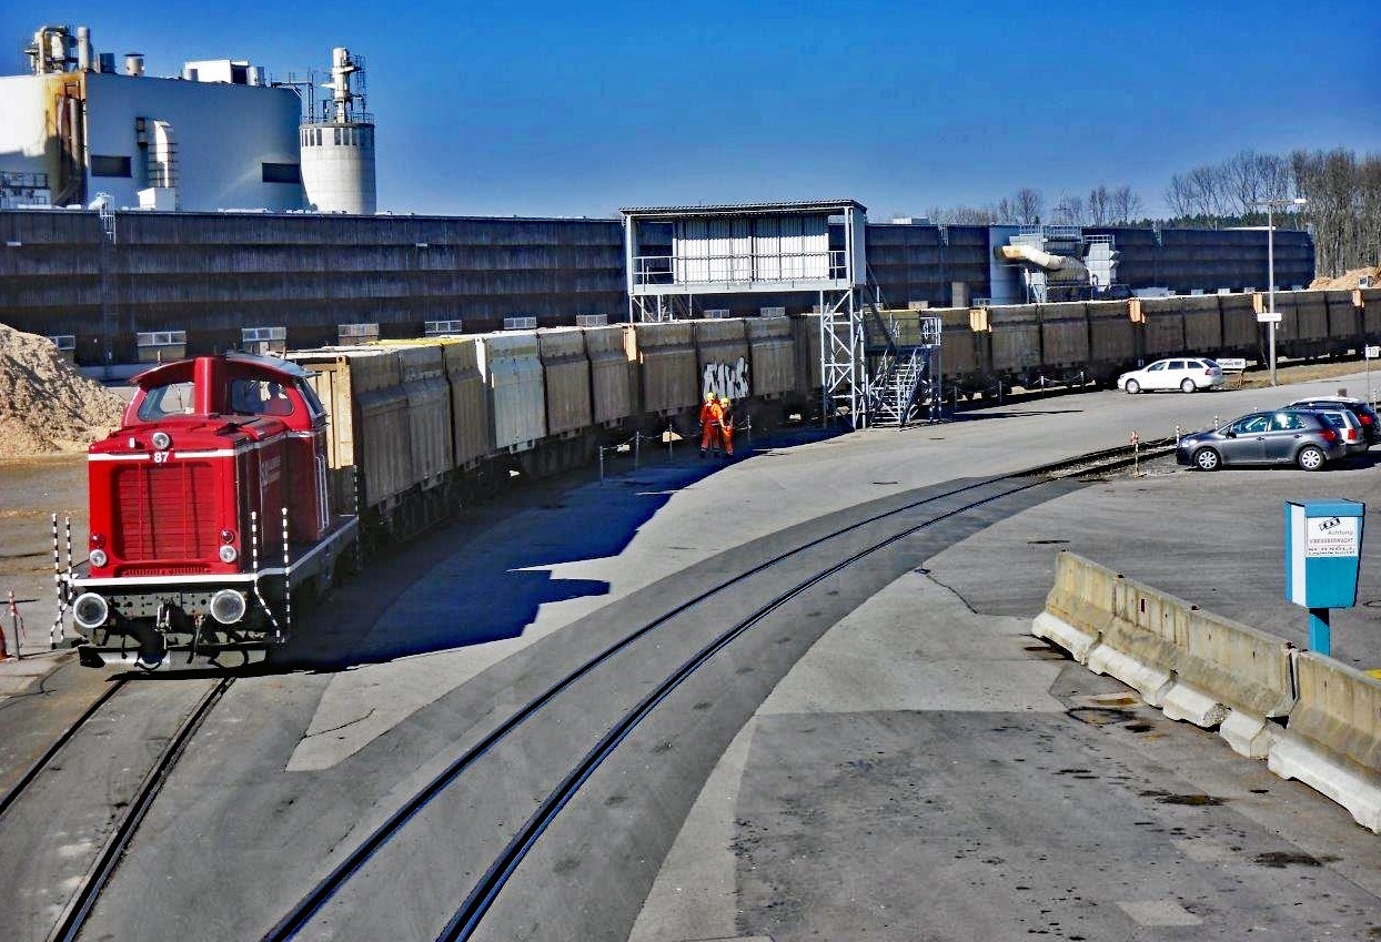
[[[30,73],[0,77],[0,209],[318,210],[371,215],[374,119],[363,62],[333,50],[330,97],[315,76],[272,84],[249,61],[97,52],[86,26],[43,26]]]

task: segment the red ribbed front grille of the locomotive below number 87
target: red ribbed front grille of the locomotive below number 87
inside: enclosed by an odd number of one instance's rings
[[[138,461],[115,471],[119,559],[197,559],[215,552],[215,472],[206,461]]]

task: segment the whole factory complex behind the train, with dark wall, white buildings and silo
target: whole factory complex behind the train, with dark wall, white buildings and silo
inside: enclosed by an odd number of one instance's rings
[[[43,26],[28,55],[30,75],[0,77],[0,320],[84,363],[170,331],[200,352],[833,307],[842,336],[865,302],[1266,286],[1264,231],[877,224],[855,200],[681,207],[696,211],[644,215],[635,236],[620,220],[376,215],[376,124],[349,50],[326,83],[278,84],[243,59],[153,77],[130,52],[117,72],[80,26]],[[1308,285],[1309,235],[1275,249],[1277,285]],[[847,291],[802,297],[807,282]]]

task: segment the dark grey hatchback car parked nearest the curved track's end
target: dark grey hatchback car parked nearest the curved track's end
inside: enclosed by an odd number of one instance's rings
[[[1348,453],[1338,430],[1316,412],[1254,412],[1222,428],[1179,439],[1175,461],[1200,471],[1230,464],[1297,464],[1319,471]]]

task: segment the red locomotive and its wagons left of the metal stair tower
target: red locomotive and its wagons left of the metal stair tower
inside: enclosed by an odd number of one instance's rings
[[[635,431],[690,435],[710,388],[755,423],[804,414],[819,369],[800,351],[818,330],[811,318],[558,327],[149,370],[124,427],[91,448],[90,561],[59,581],[83,663],[261,656],[363,546]]]

